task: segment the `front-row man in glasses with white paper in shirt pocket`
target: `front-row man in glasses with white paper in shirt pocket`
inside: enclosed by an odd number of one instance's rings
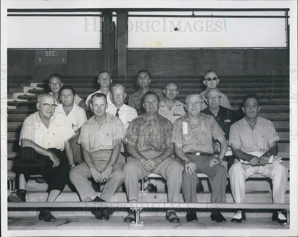
[[[207,174],[211,188],[211,202],[226,202],[227,172],[221,162],[227,149],[224,131],[213,116],[201,113],[203,98],[197,92],[185,98],[187,114],[174,122],[172,142],[176,156],[184,165],[182,193],[184,202],[198,202],[196,185],[197,173]],[[221,143],[218,157],[213,155],[212,136]],[[219,209],[212,209],[211,220],[226,222]],[[188,209],[187,222],[198,221],[195,209]]]

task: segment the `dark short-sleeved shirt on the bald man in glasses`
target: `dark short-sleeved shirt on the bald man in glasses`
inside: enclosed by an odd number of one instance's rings
[[[206,109],[202,110],[201,113],[209,114],[215,118],[215,121],[225,132],[224,136],[226,140],[229,140],[231,125],[240,119],[235,111],[222,106],[219,106],[219,110],[216,116],[210,111],[209,106]]]

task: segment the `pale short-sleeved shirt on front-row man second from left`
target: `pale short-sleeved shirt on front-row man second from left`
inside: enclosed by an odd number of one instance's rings
[[[122,121],[106,113],[104,124],[100,127],[94,116],[88,119],[81,127],[78,144],[89,142],[92,158],[101,157],[102,150],[112,150],[113,140],[124,138],[125,127]]]

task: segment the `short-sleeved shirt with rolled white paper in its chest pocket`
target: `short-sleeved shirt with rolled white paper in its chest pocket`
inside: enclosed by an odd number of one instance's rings
[[[183,152],[213,154],[212,136],[216,140],[224,136],[224,131],[211,115],[200,113],[197,124],[190,122],[188,114],[174,122],[172,142],[182,144]]]

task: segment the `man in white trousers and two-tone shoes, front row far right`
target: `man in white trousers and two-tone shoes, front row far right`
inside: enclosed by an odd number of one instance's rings
[[[278,163],[279,137],[272,122],[258,116],[260,108],[255,94],[246,95],[242,107],[245,117],[230,127],[229,144],[234,157],[239,159],[229,169],[232,195],[236,203],[245,202],[245,180],[252,174],[271,178],[273,202],[285,202],[288,169]],[[235,213],[231,222],[242,222],[245,219],[245,212],[241,210]],[[281,212],[274,212],[272,220],[286,222]]]

